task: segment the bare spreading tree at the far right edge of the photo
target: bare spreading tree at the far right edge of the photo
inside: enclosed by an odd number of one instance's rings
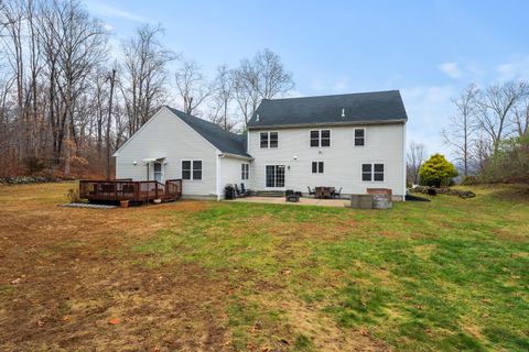
[[[511,133],[512,113],[516,106],[528,95],[525,81],[507,81],[489,86],[479,100],[479,124],[488,135],[496,153],[505,135]]]

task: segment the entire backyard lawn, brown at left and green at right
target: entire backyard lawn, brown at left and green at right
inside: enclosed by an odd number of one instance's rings
[[[0,350],[527,351],[529,191],[61,208],[0,186]]]

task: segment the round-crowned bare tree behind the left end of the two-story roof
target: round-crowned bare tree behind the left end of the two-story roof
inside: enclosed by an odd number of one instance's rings
[[[266,48],[253,59],[242,59],[234,73],[235,99],[242,113],[245,125],[262,99],[284,95],[294,87],[292,74],[287,72],[281,57]]]

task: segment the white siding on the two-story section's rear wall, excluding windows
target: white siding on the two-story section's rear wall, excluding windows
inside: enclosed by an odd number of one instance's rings
[[[365,145],[354,145],[354,129],[365,128]],[[366,188],[391,188],[393,195],[404,195],[404,130],[406,124],[373,124],[355,127],[319,127],[331,130],[331,146],[311,147],[311,128],[250,130],[248,153],[255,158],[250,166],[250,187],[267,189],[266,165],[285,165],[282,189],[307,191],[307,186],[343,188],[342,194],[365,194]],[[259,133],[279,132],[279,147],[260,148]],[[294,160],[294,157],[296,157]],[[324,174],[312,174],[312,162],[324,162]],[[384,163],[384,182],[363,182],[361,164]]]

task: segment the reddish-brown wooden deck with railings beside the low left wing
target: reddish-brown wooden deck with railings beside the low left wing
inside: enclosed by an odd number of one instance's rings
[[[79,197],[89,201],[149,202],[176,200],[182,196],[182,179],[156,180],[79,180]]]

